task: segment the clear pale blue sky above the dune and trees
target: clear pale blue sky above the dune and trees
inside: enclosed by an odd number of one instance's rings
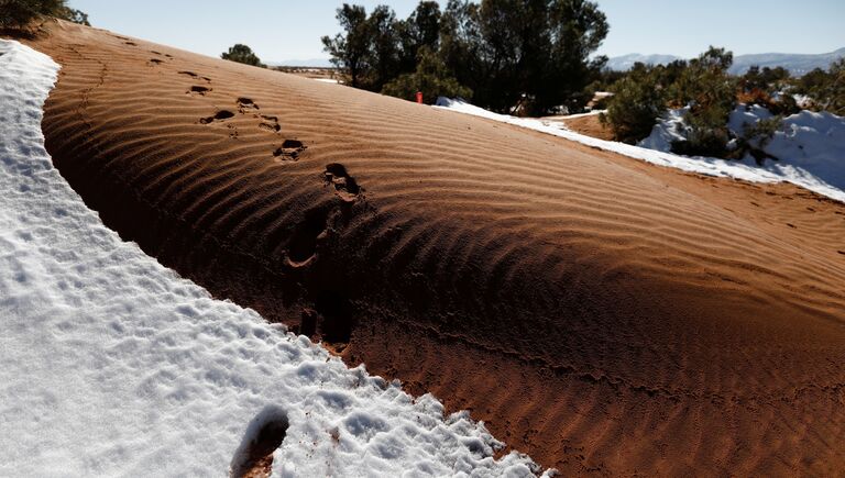
[[[234,43],[264,60],[326,57],[320,36],[339,31],[336,0],[69,0],[91,24],[218,56]],[[406,18],[418,0],[378,3]],[[441,5],[446,4],[442,0]],[[599,53],[695,56],[709,45],[734,54],[827,53],[845,47],[845,0],[599,0],[611,33]]]

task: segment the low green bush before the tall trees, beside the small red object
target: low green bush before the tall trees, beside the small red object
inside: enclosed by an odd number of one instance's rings
[[[417,91],[421,91],[428,104],[436,102],[438,97],[471,99],[472,90],[461,86],[454,77],[449,75],[446,64],[435,52],[424,46],[419,49],[418,56],[416,71],[402,75],[388,82],[382,89],[382,93],[411,100]]]

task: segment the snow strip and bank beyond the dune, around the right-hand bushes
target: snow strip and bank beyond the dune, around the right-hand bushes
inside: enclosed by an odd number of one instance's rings
[[[681,111],[670,112],[665,122],[655,126],[656,130],[649,138],[644,140],[640,146],[634,146],[575,133],[559,122],[493,113],[460,99],[439,98],[437,107],[540,131],[684,171],[754,182],[788,181],[845,202],[845,119],[826,113],[804,111],[789,116],[784,121],[782,132],[770,143],[771,147],[781,154],[778,156],[772,153],[780,160],[767,160],[762,166],[757,166],[750,158],[725,160],[687,157],[660,151],[661,145],[671,141],[676,133],[672,127],[660,126],[677,124],[682,115]]]

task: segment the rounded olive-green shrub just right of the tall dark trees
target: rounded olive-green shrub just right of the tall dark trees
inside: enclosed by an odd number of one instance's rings
[[[611,126],[616,141],[634,144],[648,136],[666,111],[666,93],[656,82],[655,71],[645,67],[632,71],[613,90],[601,121]]]

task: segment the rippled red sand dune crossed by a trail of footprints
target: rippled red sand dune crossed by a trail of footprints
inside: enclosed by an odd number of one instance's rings
[[[845,469],[845,207],[64,22],[124,238],[564,475]]]

